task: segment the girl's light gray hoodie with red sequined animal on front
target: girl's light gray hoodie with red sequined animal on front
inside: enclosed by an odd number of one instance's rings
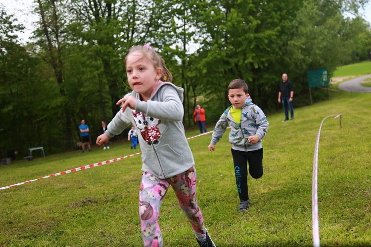
[[[128,107],[125,112],[120,109],[105,132],[113,137],[134,124],[142,151],[142,170],[161,179],[180,174],[194,165],[182,124],[183,91],[170,82],[159,81],[147,102],[140,101],[135,91],[131,92],[128,95],[138,100],[136,109]]]

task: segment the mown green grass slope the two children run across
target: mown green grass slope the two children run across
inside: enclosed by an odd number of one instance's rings
[[[225,135],[214,152],[210,135],[189,140],[197,169],[197,200],[217,246],[311,246],[313,153],[325,120],[318,157],[322,246],[368,246],[370,232],[370,97],[333,92],[331,100],[297,108],[295,120],[268,115],[264,175],[248,177],[252,206],[237,211],[231,145]],[[355,111],[355,109],[357,109]],[[355,120],[357,126],[355,127]],[[208,128],[212,128],[208,125]],[[288,131],[289,130],[289,131]],[[186,136],[198,134],[197,129]],[[351,137],[351,138],[347,138]],[[0,186],[132,154],[130,143],[48,155],[0,166]],[[138,150],[139,152],[139,150]],[[138,216],[140,156],[0,191],[2,246],[142,246]],[[159,224],[165,246],[196,240],[169,190]]]

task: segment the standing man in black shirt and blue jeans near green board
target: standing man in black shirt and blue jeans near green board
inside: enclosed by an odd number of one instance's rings
[[[282,82],[279,84],[279,91],[278,91],[278,102],[281,102],[281,97],[282,97],[282,105],[283,105],[283,110],[285,112],[285,120],[283,120],[282,123],[288,120],[287,107],[290,108],[291,120],[294,119],[294,107],[292,105],[293,96],[294,96],[294,89],[293,89],[292,83],[287,80],[287,74],[283,74]]]

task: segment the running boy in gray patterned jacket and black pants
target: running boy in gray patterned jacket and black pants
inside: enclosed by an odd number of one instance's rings
[[[228,86],[228,98],[232,103],[220,117],[215,126],[209,150],[222,138],[228,125],[231,127],[229,135],[232,144],[232,157],[236,185],[241,212],[249,208],[250,200],[247,189],[247,163],[253,178],[263,176],[263,147],[262,138],[267,134],[268,121],[263,111],[251,101],[246,82],[236,79]]]

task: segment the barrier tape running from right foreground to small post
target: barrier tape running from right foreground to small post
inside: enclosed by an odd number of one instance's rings
[[[335,115],[335,114],[334,114]],[[318,130],[316,145],[314,148],[314,159],[313,159],[313,177],[312,177],[312,225],[313,225],[313,246],[319,247],[320,246],[320,227],[318,221],[318,147],[320,143],[320,135],[321,135],[321,128],[322,124],[324,123],[325,119],[334,115],[330,115],[325,117],[322,120],[320,125],[320,129]],[[341,127],[341,113],[336,115],[334,119],[340,117],[340,127]]]

